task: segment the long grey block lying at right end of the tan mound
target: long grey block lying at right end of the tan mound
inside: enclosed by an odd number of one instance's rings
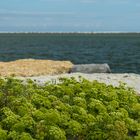
[[[70,73],[110,73],[110,67],[108,64],[81,64],[74,65],[70,70]]]

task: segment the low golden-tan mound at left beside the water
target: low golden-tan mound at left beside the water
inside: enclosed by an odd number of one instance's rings
[[[1,76],[40,76],[67,73],[73,64],[70,61],[21,59],[0,62]]]

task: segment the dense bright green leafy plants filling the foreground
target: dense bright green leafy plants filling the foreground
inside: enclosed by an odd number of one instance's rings
[[[140,96],[82,78],[0,79],[0,140],[140,140]]]

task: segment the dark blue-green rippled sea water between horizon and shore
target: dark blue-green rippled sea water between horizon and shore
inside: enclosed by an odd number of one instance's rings
[[[112,72],[140,74],[140,34],[0,34],[0,61],[22,58],[108,63]]]

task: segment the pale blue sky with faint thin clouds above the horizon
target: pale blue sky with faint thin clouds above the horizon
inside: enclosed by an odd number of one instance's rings
[[[0,32],[140,32],[140,0],[0,0]]]

